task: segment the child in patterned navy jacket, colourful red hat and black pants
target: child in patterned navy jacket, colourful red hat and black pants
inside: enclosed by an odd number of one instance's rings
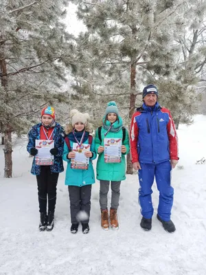
[[[64,146],[64,130],[55,121],[55,111],[53,107],[45,107],[41,111],[41,123],[32,127],[28,133],[29,142],[27,151],[34,156],[32,164],[32,175],[36,175],[38,186],[38,203],[40,212],[40,231],[51,231],[54,228],[54,210],[56,206],[56,186],[58,175],[64,170],[62,153]],[[38,154],[36,140],[54,140],[54,148],[50,150],[54,155],[54,164],[38,165],[35,155]],[[48,211],[47,211],[48,208]]]

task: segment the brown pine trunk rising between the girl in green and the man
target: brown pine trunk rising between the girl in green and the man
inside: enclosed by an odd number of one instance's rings
[[[130,121],[133,117],[133,113],[135,111],[135,100],[137,97],[137,94],[135,93],[136,90],[136,56],[133,58],[132,64],[131,64],[131,70],[130,70],[130,111],[129,111],[129,118]],[[128,127],[128,131],[130,131],[130,125]],[[130,154],[126,156],[126,173],[127,174],[133,174],[133,164],[130,161]]]

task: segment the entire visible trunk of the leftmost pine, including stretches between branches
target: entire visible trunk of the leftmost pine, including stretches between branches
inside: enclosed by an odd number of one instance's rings
[[[0,38],[3,39],[3,34],[0,35]],[[1,86],[5,91],[8,90],[8,74],[4,56],[4,44],[1,43],[0,47],[0,72],[1,72]],[[4,100],[7,100],[8,97],[5,97]],[[5,101],[5,103],[7,103]],[[5,167],[4,167],[4,177],[12,177],[12,127],[9,124],[3,124],[4,133],[4,142],[5,146],[3,148],[4,158],[5,158]]]

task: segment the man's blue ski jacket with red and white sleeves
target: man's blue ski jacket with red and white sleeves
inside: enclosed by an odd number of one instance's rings
[[[158,102],[155,107],[143,104],[137,108],[130,126],[130,150],[133,163],[179,159],[176,130],[168,109]]]

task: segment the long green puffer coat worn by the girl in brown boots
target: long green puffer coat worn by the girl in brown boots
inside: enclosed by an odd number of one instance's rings
[[[115,124],[115,123],[114,123]],[[98,136],[98,129],[95,133],[95,151],[98,153],[99,146],[104,146],[104,133],[106,130],[102,126],[101,130],[101,137],[102,142],[100,142]],[[109,131],[106,135],[106,138],[114,137],[114,138],[122,138],[123,133],[122,129],[119,130],[117,133],[113,133]],[[122,153],[122,162],[119,163],[105,163],[104,162],[104,152],[100,153],[98,156],[98,164],[97,164],[97,179],[108,180],[108,181],[122,181],[126,179],[125,172],[126,172],[126,159],[125,155],[129,153],[130,146],[129,146],[129,139],[128,139],[128,131],[126,130],[125,140],[123,145],[126,146],[126,153]]]

